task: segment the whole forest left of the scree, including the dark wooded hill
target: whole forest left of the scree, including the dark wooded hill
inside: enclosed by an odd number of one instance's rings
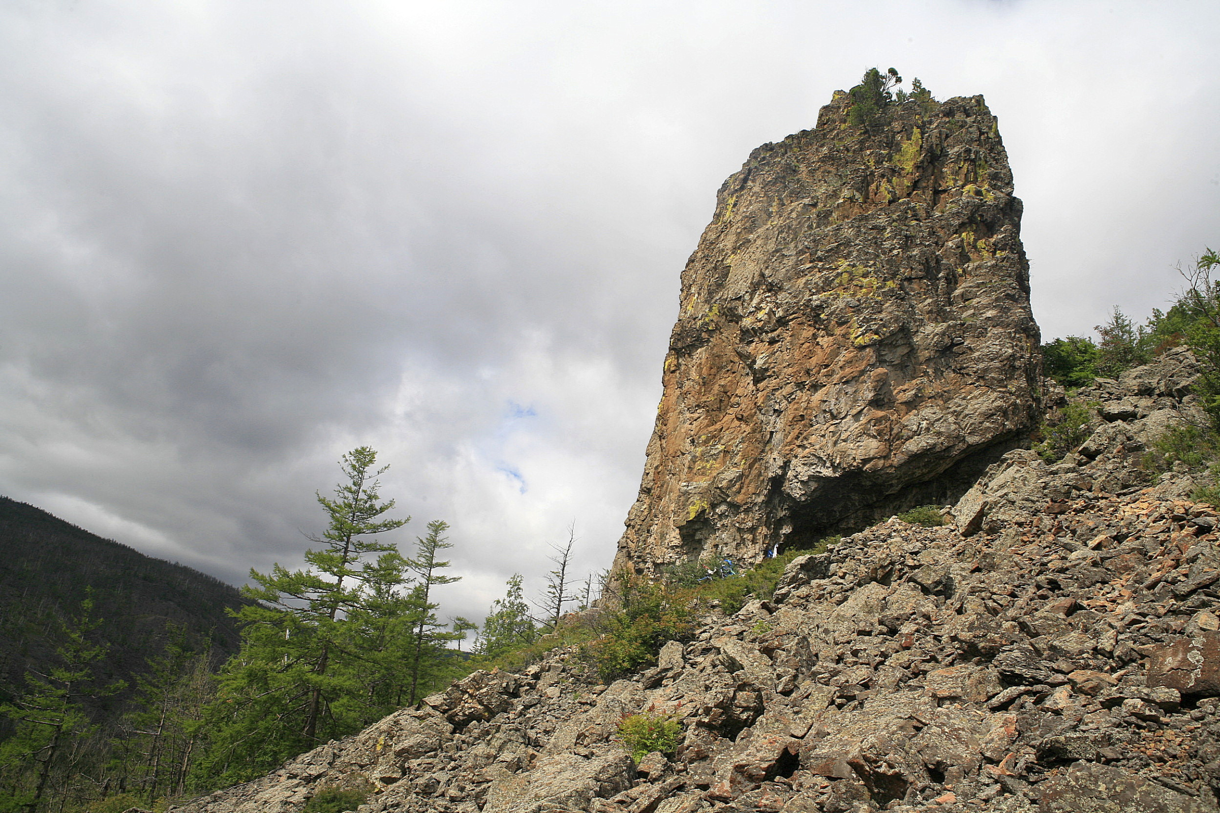
[[[265,773],[465,674],[450,644],[473,625],[451,630],[436,614],[437,588],[458,580],[440,558],[449,525],[428,523],[410,556],[383,541],[410,518],[388,516],[376,458],[367,446],[344,455],[345,480],[317,495],[328,525],[311,538],[306,567],[251,570],[240,594],[0,505],[5,542],[41,551],[0,570],[0,812],[163,807]],[[32,607],[29,585],[55,551],[65,566]],[[94,588],[99,572],[115,578]],[[73,595],[85,598],[72,605]],[[192,614],[199,605],[214,627]],[[133,619],[137,606],[146,614]]]

